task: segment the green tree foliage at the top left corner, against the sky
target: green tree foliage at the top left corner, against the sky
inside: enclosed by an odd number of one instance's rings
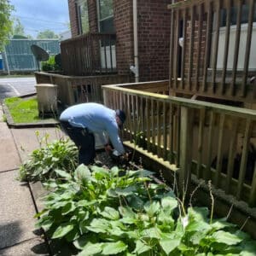
[[[13,10],[14,6],[9,3],[9,0],[0,1],[0,50],[3,50],[13,31],[13,21],[10,18]]]

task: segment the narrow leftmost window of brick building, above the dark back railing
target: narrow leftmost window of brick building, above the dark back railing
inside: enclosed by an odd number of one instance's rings
[[[77,1],[79,34],[90,32],[87,0]]]

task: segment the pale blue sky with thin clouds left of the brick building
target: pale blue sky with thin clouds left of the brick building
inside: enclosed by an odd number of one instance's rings
[[[15,6],[13,16],[20,19],[25,34],[36,38],[49,29],[56,34],[68,30],[67,0],[9,0]]]

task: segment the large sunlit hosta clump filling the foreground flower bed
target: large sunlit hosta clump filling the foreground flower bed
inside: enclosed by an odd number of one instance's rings
[[[151,172],[79,166],[55,170],[38,227],[79,255],[254,255],[255,242],[208,209],[180,205]],[[63,183],[63,180],[65,181]],[[183,209],[183,210],[179,210]]]

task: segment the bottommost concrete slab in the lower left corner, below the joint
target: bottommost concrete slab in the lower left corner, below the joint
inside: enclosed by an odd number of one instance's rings
[[[2,256],[34,256],[34,255],[49,255],[48,247],[41,238],[34,238],[29,241],[23,241],[13,247],[8,247],[0,250]]]

